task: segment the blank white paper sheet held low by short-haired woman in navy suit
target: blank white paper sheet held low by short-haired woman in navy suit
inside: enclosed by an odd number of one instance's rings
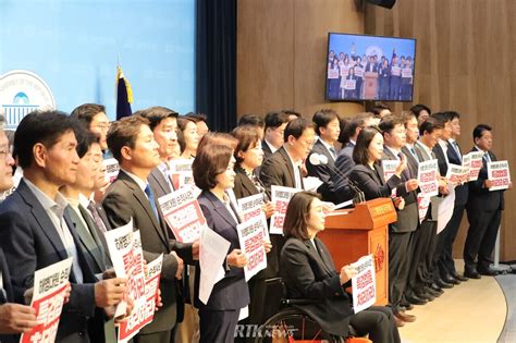
[[[208,304],[214,284],[224,277],[225,272],[222,265],[228,256],[230,246],[231,243],[228,240],[210,228],[206,226],[202,229],[199,247],[199,299],[204,304]]]

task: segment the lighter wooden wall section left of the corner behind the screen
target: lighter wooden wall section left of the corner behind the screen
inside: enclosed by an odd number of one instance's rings
[[[329,32],[364,33],[364,12],[354,0],[238,0],[238,115],[364,111],[363,103],[324,100]]]

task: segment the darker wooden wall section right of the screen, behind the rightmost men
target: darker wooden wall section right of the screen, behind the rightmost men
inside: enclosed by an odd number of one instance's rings
[[[365,32],[415,37],[417,41],[414,102],[433,111],[462,114],[463,149],[472,146],[476,124],[493,127],[499,159],[509,160],[516,175],[516,2],[513,0],[397,0],[393,10],[367,5]],[[396,103],[395,110],[410,103]],[[515,179],[516,181],[516,179]],[[516,191],[505,193],[502,260],[516,260]],[[467,232],[463,220],[455,256],[462,258]]]

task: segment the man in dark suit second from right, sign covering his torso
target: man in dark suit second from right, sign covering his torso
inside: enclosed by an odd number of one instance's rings
[[[450,117],[452,127],[452,136],[450,139],[447,139],[447,159],[450,163],[462,166],[463,155],[457,144],[457,138],[460,135],[460,115],[457,112],[447,112],[447,114]],[[464,210],[468,201],[468,184],[457,185],[455,187],[455,206],[453,208],[452,218],[444,229],[447,234],[444,237],[443,252],[439,261],[442,270],[445,270],[447,273],[450,273],[450,275],[460,281],[467,281],[467,278],[458,274],[455,269],[455,264],[453,261],[453,243],[455,242],[458,228],[460,226]]]

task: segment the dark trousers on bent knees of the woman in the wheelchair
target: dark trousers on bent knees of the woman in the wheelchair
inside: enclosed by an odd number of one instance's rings
[[[349,324],[360,335],[369,334],[372,342],[400,343],[394,316],[389,307],[371,306],[361,313],[353,315]]]

